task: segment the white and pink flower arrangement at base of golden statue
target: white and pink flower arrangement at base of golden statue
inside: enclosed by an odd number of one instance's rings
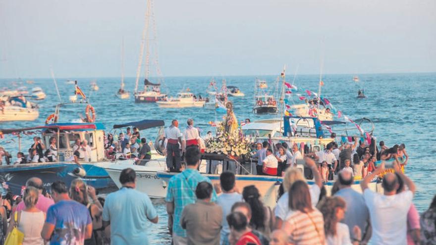
[[[237,131],[227,133],[222,124],[217,127],[217,131],[216,137],[205,140],[205,151],[207,153],[242,156],[250,152],[251,143],[249,137],[244,137]]]

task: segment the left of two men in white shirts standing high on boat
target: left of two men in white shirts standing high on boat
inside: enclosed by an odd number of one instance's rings
[[[179,122],[177,120],[171,121],[171,126],[166,128],[165,136],[162,139],[162,144],[166,143],[166,167],[171,172],[180,172],[181,159],[180,159],[180,146],[182,143],[182,134],[178,128]],[[179,145],[180,144],[180,145]],[[182,147],[183,148],[183,147]]]

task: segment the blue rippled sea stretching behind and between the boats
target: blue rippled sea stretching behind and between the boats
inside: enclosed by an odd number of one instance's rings
[[[343,115],[355,120],[369,118],[373,121],[374,135],[378,141],[384,141],[386,146],[404,143],[409,154],[409,163],[406,174],[417,185],[414,197],[420,212],[428,208],[436,194],[436,73],[401,73],[401,74],[361,74],[359,82],[353,81],[354,75],[325,75],[323,76],[322,97],[328,98],[330,103],[342,112]],[[204,77],[165,77],[162,91],[168,97],[176,97],[178,92],[190,90],[195,95],[207,97],[207,89],[211,76]],[[218,89],[225,79],[227,86],[237,86],[245,97],[229,97],[233,102],[234,111],[238,121],[250,118],[256,121],[265,118],[277,118],[279,115],[255,115],[252,112],[254,105],[255,80],[266,80],[271,93],[276,93],[278,76],[227,76],[214,77]],[[25,80],[1,79],[0,88],[13,89],[14,86],[26,86],[30,91],[33,87],[41,87],[47,94],[45,100],[37,101],[40,106],[40,116],[33,122],[7,122],[0,123],[0,128],[31,127],[43,125],[49,114],[54,113],[55,105],[68,102],[68,97],[74,94],[74,85],[67,84],[68,80],[77,80],[78,86],[87,96],[89,102],[95,107],[97,122],[104,123],[107,132],[113,132],[114,124],[143,120],[162,119],[169,125],[172,119],[177,119],[183,129],[188,118],[193,118],[202,134],[207,131],[214,132],[211,121],[220,121],[223,114],[217,114],[213,108],[159,108],[155,103],[134,103],[134,98],[119,99],[115,96],[120,87],[120,78],[57,78],[59,96],[56,92],[54,80],[32,79],[33,84]],[[153,78],[151,82],[155,82]],[[306,96],[306,90],[318,93],[319,75],[288,76],[286,80],[293,83],[298,91],[293,92],[291,101],[300,103],[299,97]],[[96,81],[100,89],[90,90],[90,83]],[[135,87],[135,78],[125,79],[125,89],[132,92]],[[142,81],[139,87],[142,88]],[[357,98],[357,91],[365,89],[367,98]],[[279,88],[278,88],[279,90]],[[83,104],[66,105],[61,109],[60,122],[76,121],[80,115],[85,114]],[[343,120],[343,116],[339,120]],[[116,131],[115,133],[118,133]],[[154,141],[158,134],[157,129],[141,132]],[[427,142],[427,143],[426,143]],[[31,137],[23,141],[31,144]],[[15,155],[16,143],[10,141],[10,136],[0,140],[0,145]],[[115,191],[109,190],[106,193]],[[163,200],[153,200],[158,213],[159,223],[149,224],[151,244],[170,241],[167,233],[167,216]]]

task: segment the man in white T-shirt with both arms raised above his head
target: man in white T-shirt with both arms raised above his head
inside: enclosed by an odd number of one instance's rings
[[[369,244],[407,244],[407,213],[416,188],[415,184],[401,172],[396,163],[394,163],[394,169],[395,174],[388,173],[383,177],[383,195],[371,191],[368,184],[375,176],[384,172],[384,162],[360,183],[373,228]],[[408,190],[397,194],[400,187],[398,177],[402,179]]]

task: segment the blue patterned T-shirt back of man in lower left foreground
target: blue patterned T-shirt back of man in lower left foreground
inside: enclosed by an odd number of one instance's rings
[[[92,221],[85,205],[73,200],[60,200],[47,211],[46,223],[54,225],[50,244],[61,245],[83,244],[86,226]]]

